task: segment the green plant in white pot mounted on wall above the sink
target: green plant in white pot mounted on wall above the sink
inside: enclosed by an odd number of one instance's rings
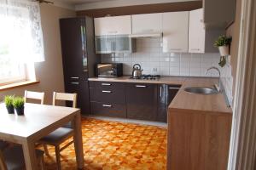
[[[224,35],[218,37],[218,40],[214,42],[214,46],[218,48],[220,56],[228,56],[230,54],[230,43],[232,37],[226,37]]]

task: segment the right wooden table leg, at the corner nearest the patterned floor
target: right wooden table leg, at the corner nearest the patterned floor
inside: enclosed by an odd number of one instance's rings
[[[81,115],[78,113],[74,117],[74,146],[76,151],[76,159],[78,168],[84,167],[84,150],[83,150],[83,139],[81,130]]]

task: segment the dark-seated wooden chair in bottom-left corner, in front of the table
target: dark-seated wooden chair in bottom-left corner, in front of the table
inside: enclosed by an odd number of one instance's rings
[[[38,167],[44,170],[44,151],[36,150],[38,158]],[[25,159],[21,145],[14,145],[12,147],[0,150],[0,169],[1,170],[22,170],[26,169]]]

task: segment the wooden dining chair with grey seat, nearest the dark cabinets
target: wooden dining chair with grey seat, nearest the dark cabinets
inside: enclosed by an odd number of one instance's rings
[[[53,105],[55,105],[56,100],[73,101],[73,108],[75,108],[77,105],[77,94],[64,94],[54,92]],[[54,132],[49,133],[49,135],[45,136],[39,141],[40,144],[48,144],[55,147],[55,158],[58,170],[61,170],[61,151],[66,149],[70,144],[73,144],[73,139],[61,148],[60,145],[67,139],[73,138],[73,134],[73,124],[70,123],[65,127],[60,127]],[[45,150],[45,153],[48,153],[48,151]]]

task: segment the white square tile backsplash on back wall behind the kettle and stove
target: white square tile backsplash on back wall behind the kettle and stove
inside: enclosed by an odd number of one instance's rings
[[[219,54],[162,53],[160,44],[160,37],[137,38],[136,53],[103,54],[102,62],[124,63],[125,75],[131,75],[132,65],[138,63],[143,67],[143,74],[186,77],[218,76],[217,73],[210,73],[206,76],[205,71],[212,65],[218,66]]]

